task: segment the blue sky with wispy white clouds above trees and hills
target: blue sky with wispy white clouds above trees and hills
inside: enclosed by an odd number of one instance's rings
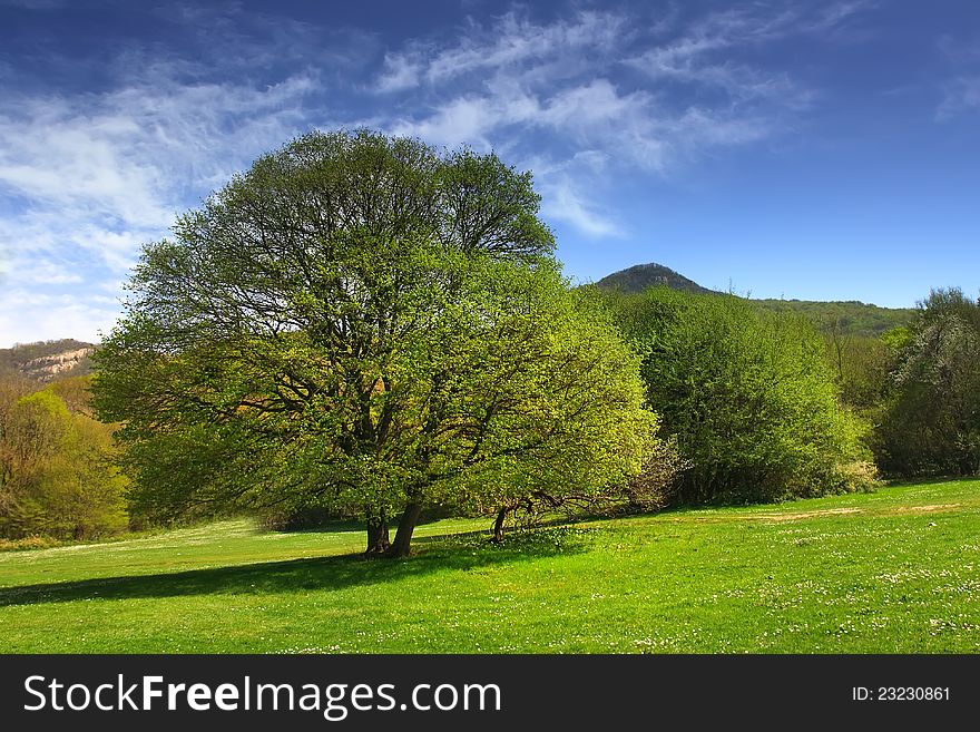
[[[141,243],[367,126],[535,174],[576,281],[980,286],[980,3],[0,0],[0,348],[97,340]]]

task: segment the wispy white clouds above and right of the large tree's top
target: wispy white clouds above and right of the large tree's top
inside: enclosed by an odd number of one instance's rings
[[[406,92],[370,124],[435,145],[471,145],[533,158],[547,215],[589,236],[620,235],[600,196],[614,176],[669,176],[712,148],[778,135],[813,92],[783,71],[736,61],[794,36],[833,35],[868,2],[822,8],[745,6],[649,19],[584,11],[551,23],[510,12],[465,28],[447,45],[413,40],[390,50],[374,91]],[[623,74],[624,68],[638,74]],[[615,81],[614,81],[615,79]],[[547,149],[536,149],[547,139]],[[587,169],[580,153],[602,162]],[[589,191],[586,199],[579,192]]]

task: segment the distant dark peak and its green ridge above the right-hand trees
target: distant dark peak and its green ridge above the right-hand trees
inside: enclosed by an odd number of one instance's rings
[[[595,286],[602,290],[639,293],[648,287],[667,286],[672,290],[694,293],[716,293],[688,280],[674,270],[650,262],[637,264],[619,272],[606,275]],[[793,312],[807,318],[822,330],[836,329],[850,335],[874,338],[885,331],[908,323],[911,308],[879,308],[878,305],[850,301],[814,301],[814,300],[751,300],[761,310],[771,312]]]

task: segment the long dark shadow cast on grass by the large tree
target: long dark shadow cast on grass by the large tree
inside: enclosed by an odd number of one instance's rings
[[[578,554],[588,548],[585,533],[550,529],[514,535],[502,545],[486,531],[420,537],[408,559],[365,559],[360,555],[129,575],[0,588],[0,607],[84,599],[143,599],[195,595],[267,595],[337,591],[359,585],[399,582],[440,572],[472,572],[547,556]]]

